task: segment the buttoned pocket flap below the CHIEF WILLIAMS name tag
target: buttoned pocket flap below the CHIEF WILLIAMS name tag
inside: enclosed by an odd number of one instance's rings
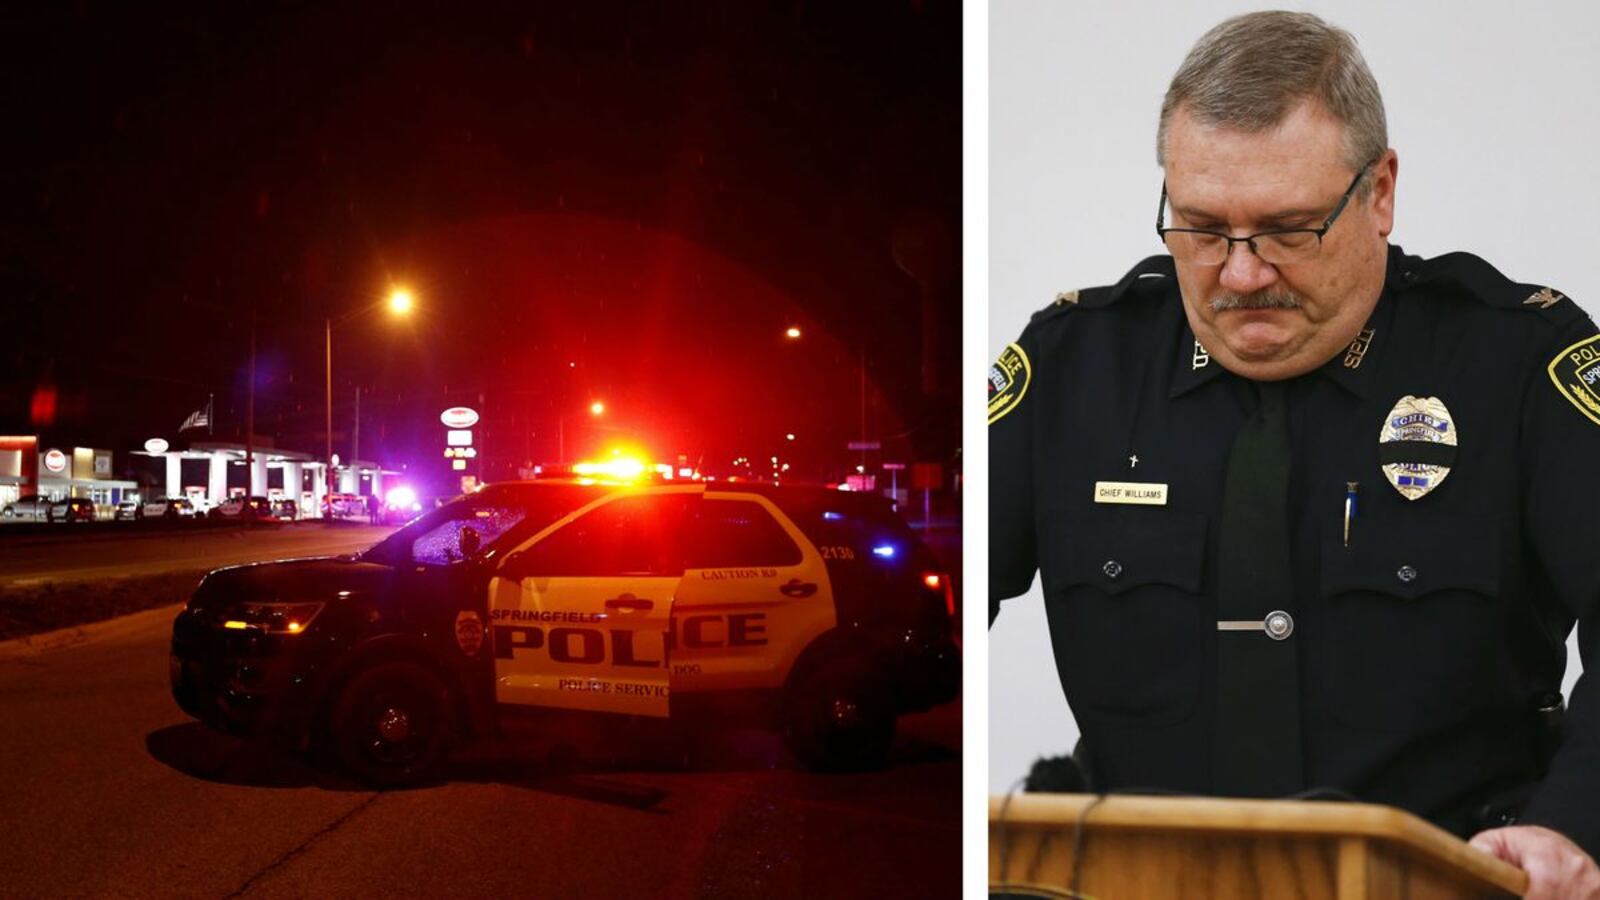
[[[1122,594],[1144,585],[1200,593],[1206,517],[1173,509],[1094,509],[1046,530],[1045,591],[1090,585]]]

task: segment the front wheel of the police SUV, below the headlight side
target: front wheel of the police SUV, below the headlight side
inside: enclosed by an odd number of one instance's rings
[[[424,666],[378,665],[339,690],[328,730],[334,756],[357,780],[376,788],[427,781],[450,753],[450,690]]]

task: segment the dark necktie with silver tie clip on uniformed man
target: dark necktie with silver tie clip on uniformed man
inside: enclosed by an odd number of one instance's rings
[[[1261,408],[1234,439],[1218,552],[1218,693],[1213,790],[1275,798],[1304,790],[1290,444],[1285,383],[1258,383]]]

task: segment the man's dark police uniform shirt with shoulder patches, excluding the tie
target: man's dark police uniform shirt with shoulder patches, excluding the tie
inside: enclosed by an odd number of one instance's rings
[[[989,388],[990,620],[1037,569],[1094,786],[1210,793],[1218,522],[1256,392],[1195,341],[1166,256],[1034,315]],[[1379,461],[1406,396],[1438,399],[1458,437],[1416,500]],[[1475,256],[1390,248],[1363,333],[1290,383],[1288,429],[1299,708],[1278,714],[1301,721],[1306,788],[1462,834],[1531,790],[1522,823],[1597,854],[1595,674],[1554,759],[1533,714],[1576,620],[1600,674],[1594,322]],[[1165,484],[1166,501],[1096,503],[1096,482]]]

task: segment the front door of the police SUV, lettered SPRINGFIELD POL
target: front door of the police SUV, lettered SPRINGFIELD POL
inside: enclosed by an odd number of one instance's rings
[[[667,714],[678,533],[698,490],[611,495],[507,556],[490,581],[501,703]]]

